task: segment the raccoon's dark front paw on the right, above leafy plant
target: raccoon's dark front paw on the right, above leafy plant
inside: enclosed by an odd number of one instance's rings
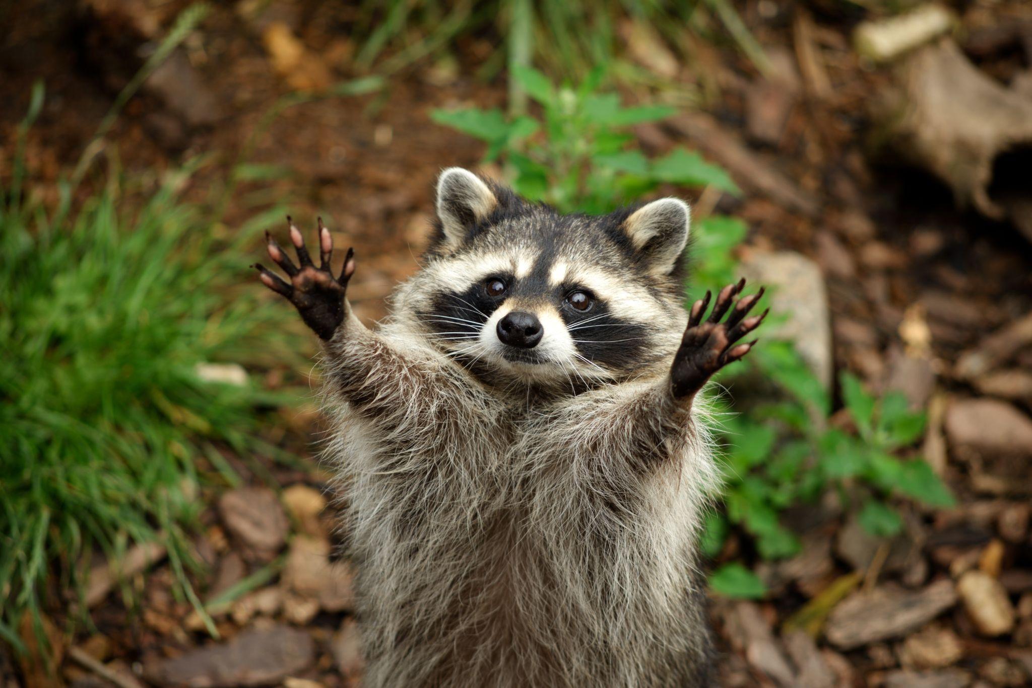
[[[756,329],[770,310],[768,308],[759,316],[745,317],[764,295],[762,287],[755,294],[738,299],[728,320],[720,322],[743,287],[745,287],[744,279],[737,285],[728,285],[721,289],[713,305],[713,313],[705,322],[702,318],[709,305],[710,292],[706,292],[704,298],[691,305],[688,327],[684,330],[681,346],[674,356],[674,365],[670,369],[675,397],[682,398],[698,392],[710,375],[727,364],[741,359],[756,342],[753,339],[747,343],[735,343]]]

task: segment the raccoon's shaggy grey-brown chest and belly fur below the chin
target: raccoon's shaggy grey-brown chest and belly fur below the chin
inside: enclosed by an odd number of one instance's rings
[[[592,453],[569,404],[441,401],[395,436],[337,416],[366,684],[695,685],[694,482]]]

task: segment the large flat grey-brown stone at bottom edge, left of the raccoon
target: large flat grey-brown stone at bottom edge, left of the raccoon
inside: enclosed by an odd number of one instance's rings
[[[281,624],[144,664],[143,677],[159,686],[262,686],[303,671],[314,659],[312,637]]]

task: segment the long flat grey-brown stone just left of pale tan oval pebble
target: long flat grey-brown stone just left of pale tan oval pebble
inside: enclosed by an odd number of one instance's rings
[[[889,586],[861,591],[832,610],[826,635],[835,647],[852,650],[905,635],[956,603],[957,591],[947,580],[917,591]]]

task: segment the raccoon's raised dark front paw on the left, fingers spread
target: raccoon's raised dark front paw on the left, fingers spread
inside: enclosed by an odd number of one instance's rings
[[[344,298],[348,291],[348,281],[355,272],[355,252],[348,249],[341,276],[334,277],[330,271],[333,238],[329,230],[323,226],[322,218],[319,219],[319,267],[312,263],[309,250],[304,248],[304,238],[294,226],[290,216],[287,216],[287,224],[290,227],[290,240],[297,251],[300,267],[294,265],[268,232],[265,232],[267,242],[265,248],[268,257],[290,276],[290,284],[265,269],[260,263],[256,263],[253,267],[258,270],[262,284],[294,304],[305,325],[323,339],[329,339],[344,322]]]

